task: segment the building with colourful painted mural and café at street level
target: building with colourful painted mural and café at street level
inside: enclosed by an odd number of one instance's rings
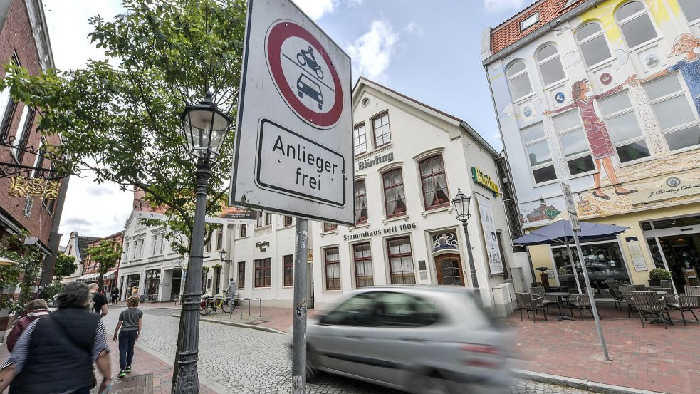
[[[647,284],[654,267],[698,284],[699,53],[697,0],[540,0],[484,31],[523,227],[567,217],[560,182],[580,219],[630,227],[583,246],[597,296],[611,279]],[[530,252],[550,281],[575,283],[565,249]]]

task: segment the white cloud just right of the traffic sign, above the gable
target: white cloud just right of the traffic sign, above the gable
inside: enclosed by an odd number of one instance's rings
[[[389,68],[399,36],[388,21],[373,21],[370,31],[348,47],[348,53],[361,76],[382,82]]]

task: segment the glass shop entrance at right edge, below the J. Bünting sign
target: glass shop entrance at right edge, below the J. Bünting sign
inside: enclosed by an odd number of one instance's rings
[[[643,222],[642,229],[654,265],[668,267],[677,291],[700,286],[700,215]]]

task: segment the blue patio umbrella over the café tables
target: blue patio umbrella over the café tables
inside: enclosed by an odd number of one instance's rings
[[[615,226],[614,224],[598,224],[589,222],[580,222],[580,224],[581,231],[578,232],[578,239],[580,242],[596,242],[615,239],[617,238],[617,234],[620,234],[630,228]],[[513,239],[513,245],[523,247],[547,244],[565,245],[569,252],[569,259],[573,268],[575,265],[573,262],[573,256],[571,256],[571,251],[569,249],[569,245],[572,242],[574,242],[574,234],[573,229],[571,228],[571,222],[563,219],[557,220],[556,222],[548,224],[545,227],[540,227],[539,229],[533,230],[529,234],[523,235],[523,237]],[[530,268],[532,269],[534,278],[535,270],[532,267],[532,262]],[[579,293],[583,294],[581,292],[578,280],[576,280],[576,286],[578,287]]]

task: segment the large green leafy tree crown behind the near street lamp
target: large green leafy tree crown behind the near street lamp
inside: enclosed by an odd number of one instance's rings
[[[40,133],[61,135],[61,145],[45,147],[57,170],[140,187],[150,204],[167,207],[167,228],[187,242],[194,162],[179,133],[180,115],[211,91],[236,119],[245,1],[122,0],[122,6],[125,14],[113,21],[90,19],[91,41],[113,61],[38,76],[7,64],[0,88],[9,85],[15,100],[37,108]],[[221,209],[232,145],[229,133],[211,169],[208,214]],[[179,243],[180,251],[187,249]]]

